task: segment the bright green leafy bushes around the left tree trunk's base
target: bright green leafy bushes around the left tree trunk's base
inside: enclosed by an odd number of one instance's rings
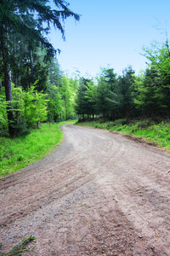
[[[21,87],[13,87],[14,130],[15,136],[26,130],[35,128],[47,119],[47,95],[35,90],[32,86],[25,91]],[[0,134],[8,135],[7,106],[4,91],[0,94]]]

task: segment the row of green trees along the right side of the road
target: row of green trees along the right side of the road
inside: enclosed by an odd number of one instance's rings
[[[77,113],[85,118],[104,119],[169,118],[170,49],[168,41],[144,49],[148,67],[138,76],[132,67],[117,76],[112,68],[103,68],[97,83],[80,79]]]

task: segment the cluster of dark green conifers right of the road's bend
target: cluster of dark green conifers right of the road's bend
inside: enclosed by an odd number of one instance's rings
[[[118,78],[112,68],[103,68],[97,85],[93,80],[80,79],[77,113],[102,115],[107,119],[129,116],[134,109],[134,79],[132,67],[127,67]]]

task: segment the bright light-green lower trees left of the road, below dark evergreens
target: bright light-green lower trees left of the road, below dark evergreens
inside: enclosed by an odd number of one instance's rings
[[[55,64],[56,64],[55,60]],[[54,65],[55,65],[54,64]],[[51,66],[51,64],[50,64]],[[58,66],[54,66],[55,75]],[[48,70],[51,73],[51,69]],[[14,135],[26,134],[32,128],[38,128],[43,121],[59,122],[75,118],[75,100],[78,87],[77,79],[70,79],[60,74],[48,81],[46,89],[37,87],[38,80],[26,90],[22,86],[12,84],[13,100],[6,101],[5,88],[0,90],[0,136],[8,136],[8,104],[13,105],[14,119],[12,121]],[[44,85],[44,84],[43,84]]]

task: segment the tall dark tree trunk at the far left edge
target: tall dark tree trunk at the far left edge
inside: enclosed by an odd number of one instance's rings
[[[3,82],[5,86],[5,95],[6,101],[8,102],[7,106],[7,116],[8,116],[8,134],[10,137],[14,137],[14,108],[12,104],[12,83],[11,83],[11,71],[8,61],[8,44],[7,44],[7,35],[3,32],[3,27],[0,27],[0,43],[3,56]]]

